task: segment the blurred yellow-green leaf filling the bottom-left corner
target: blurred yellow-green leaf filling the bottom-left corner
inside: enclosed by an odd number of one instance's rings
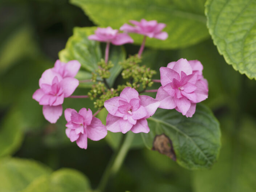
[[[38,177],[50,175],[50,169],[33,160],[5,158],[0,160],[0,190],[19,192]]]

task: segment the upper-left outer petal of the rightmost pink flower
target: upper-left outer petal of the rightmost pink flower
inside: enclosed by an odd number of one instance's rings
[[[172,79],[180,79],[180,75],[174,70],[166,67],[160,68],[160,81],[162,86],[166,86],[168,83],[172,82]]]

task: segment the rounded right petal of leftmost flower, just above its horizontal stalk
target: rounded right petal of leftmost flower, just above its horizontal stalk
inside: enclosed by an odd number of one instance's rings
[[[79,81],[73,77],[66,77],[62,79],[60,85],[63,89],[64,97],[69,97],[76,90]]]

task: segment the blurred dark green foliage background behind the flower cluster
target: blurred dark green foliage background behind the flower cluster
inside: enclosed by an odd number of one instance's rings
[[[67,0],[0,1],[0,157],[34,159],[53,170],[74,168],[96,188],[113,146],[103,139],[89,141],[87,150],[78,148],[65,135],[65,118],[50,124],[32,100],[42,72],[53,66],[75,26],[94,23]],[[139,46],[125,45],[125,49],[127,55],[134,54]],[[138,141],[106,191],[256,191],[256,81],[228,65],[210,36],[183,49],[146,48],[144,53],[144,62],[155,70],[179,58],[198,59],[204,66],[209,82],[204,104],[212,109],[222,130],[218,162],[210,170],[189,171]],[[64,109],[85,106],[93,109],[92,101],[67,98],[64,102]],[[0,178],[3,173],[0,169]],[[0,192],[8,191],[1,186]]]

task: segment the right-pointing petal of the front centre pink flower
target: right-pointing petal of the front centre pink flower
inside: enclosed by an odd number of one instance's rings
[[[149,97],[147,95],[139,95],[139,99],[141,100],[141,105],[147,111],[147,115],[145,118],[151,117],[160,105],[158,99],[153,99],[152,97]]]

